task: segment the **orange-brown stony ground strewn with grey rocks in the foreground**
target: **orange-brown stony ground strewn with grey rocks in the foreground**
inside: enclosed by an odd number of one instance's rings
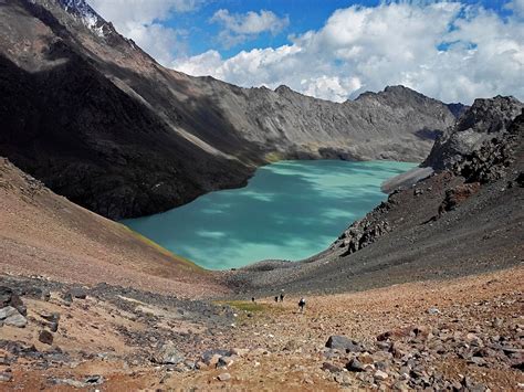
[[[0,282],[1,390],[524,388],[522,267],[311,296],[303,314],[295,296]]]

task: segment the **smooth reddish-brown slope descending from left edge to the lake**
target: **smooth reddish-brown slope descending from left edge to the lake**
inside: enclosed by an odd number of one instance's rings
[[[185,296],[224,293],[213,276],[54,194],[0,158],[0,273],[109,283]]]

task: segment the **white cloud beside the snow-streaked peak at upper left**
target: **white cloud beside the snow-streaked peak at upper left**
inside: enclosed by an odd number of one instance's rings
[[[163,20],[172,12],[198,9],[205,0],[87,0],[118,32],[135,41],[160,64],[172,62],[174,53],[182,52],[184,31],[166,28]]]

